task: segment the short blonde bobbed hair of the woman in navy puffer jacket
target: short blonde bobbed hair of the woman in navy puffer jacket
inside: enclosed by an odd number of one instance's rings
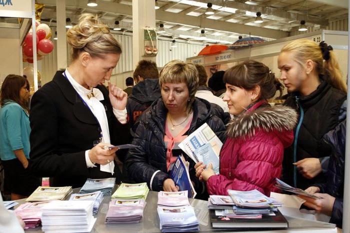
[[[194,94],[198,88],[198,71],[194,64],[185,63],[181,60],[172,60],[164,65],[159,73],[159,85],[163,83],[181,83],[187,85],[189,101],[187,102],[187,113],[192,110]]]

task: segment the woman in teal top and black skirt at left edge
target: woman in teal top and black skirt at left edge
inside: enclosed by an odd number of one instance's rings
[[[0,158],[4,167],[5,190],[11,199],[28,196],[39,185],[29,173],[29,82],[9,74],[0,90]]]

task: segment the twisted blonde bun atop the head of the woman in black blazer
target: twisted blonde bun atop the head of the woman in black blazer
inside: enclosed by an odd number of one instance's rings
[[[67,31],[67,42],[73,48],[83,48],[88,42],[98,40],[104,33],[109,33],[108,26],[97,15],[84,13],[80,15],[78,24]]]

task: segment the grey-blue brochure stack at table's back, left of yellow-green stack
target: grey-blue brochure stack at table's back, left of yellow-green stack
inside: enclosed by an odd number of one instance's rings
[[[114,187],[115,178],[90,179],[87,178],[79,193],[101,191],[104,196],[109,196]]]

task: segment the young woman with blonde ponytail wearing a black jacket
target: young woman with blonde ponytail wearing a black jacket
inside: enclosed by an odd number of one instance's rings
[[[285,105],[298,111],[294,142],[285,150],[282,179],[298,188],[324,183],[331,148],[322,137],[344,118],[346,84],[333,48],[324,41],[296,39],[278,56]]]

